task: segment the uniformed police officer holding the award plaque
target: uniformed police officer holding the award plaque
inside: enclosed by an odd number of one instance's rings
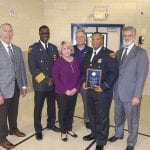
[[[84,58],[84,77],[88,68],[102,71],[101,83],[93,89],[88,88],[87,106],[92,134],[83,137],[89,141],[96,139],[96,149],[103,150],[109,132],[109,110],[113,95],[113,85],[118,77],[118,62],[113,51],[103,47],[103,37],[99,32],[92,35],[93,51]],[[86,81],[86,80],[85,80]],[[86,82],[84,83],[86,87]]]

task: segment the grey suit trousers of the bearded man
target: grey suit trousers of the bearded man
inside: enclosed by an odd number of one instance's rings
[[[125,120],[128,122],[127,145],[134,146],[137,142],[140,118],[140,105],[132,106],[131,101],[115,100],[115,136],[122,137]]]

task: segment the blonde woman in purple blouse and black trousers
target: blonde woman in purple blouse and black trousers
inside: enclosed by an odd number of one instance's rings
[[[68,140],[68,135],[77,137],[77,134],[72,131],[72,122],[81,81],[79,60],[72,56],[73,52],[72,44],[68,41],[62,41],[60,57],[54,62],[52,71],[58,101],[61,139],[63,141]]]

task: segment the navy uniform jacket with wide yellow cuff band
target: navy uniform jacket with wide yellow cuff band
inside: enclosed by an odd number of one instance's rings
[[[29,47],[28,64],[35,91],[54,89],[54,85],[49,86],[47,81],[52,78],[52,67],[57,57],[57,47],[51,43],[48,43],[48,51],[44,49],[40,41]]]

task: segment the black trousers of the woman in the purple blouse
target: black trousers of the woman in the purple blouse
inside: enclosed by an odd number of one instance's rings
[[[62,133],[72,131],[72,122],[76,100],[77,94],[73,96],[59,95],[59,94],[57,95],[58,119],[60,130]]]

